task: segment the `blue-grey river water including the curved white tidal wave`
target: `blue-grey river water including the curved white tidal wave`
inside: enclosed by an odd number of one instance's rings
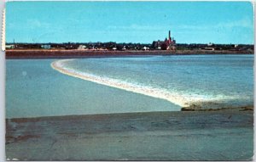
[[[253,105],[253,55],[9,59],[6,70],[7,118]]]

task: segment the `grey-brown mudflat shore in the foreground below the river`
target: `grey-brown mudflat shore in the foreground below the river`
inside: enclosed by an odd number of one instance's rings
[[[253,111],[7,119],[6,158],[250,160],[253,158]]]

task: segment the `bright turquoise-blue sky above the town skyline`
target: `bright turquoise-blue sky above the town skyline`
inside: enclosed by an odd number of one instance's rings
[[[6,42],[253,44],[248,2],[9,2]]]

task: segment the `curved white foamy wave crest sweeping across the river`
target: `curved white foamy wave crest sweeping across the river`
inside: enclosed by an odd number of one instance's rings
[[[116,87],[129,92],[136,92],[154,98],[165,99],[181,107],[189,106],[190,103],[216,101],[220,98],[223,98],[223,96],[219,96],[218,98],[215,97],[214,99],[212,99],[212,97],[203,95],[185,95],[180,94],[178,92],[170,92],[170,90],[161,89],[158,87],[143,86],[138,83],[135,84],[127,81],[122,81],[119,79],[109,78],[106,76],[85,73],[83,71],[74,70],[72,68],[67,67],[65,63],[72,60],[73,59],[57,60],[51,64],[51,67],[65,75],[71,75],[73,77],[77,77],[86,81],[93,81],[108,87]]]

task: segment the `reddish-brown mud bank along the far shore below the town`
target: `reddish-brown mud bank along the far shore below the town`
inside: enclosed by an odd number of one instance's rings
[[[6,50],[6,59],[76,59],[90,57],[127,57],[141,55],[198,55],[198,54],[253,54],[247,51],[228,50],[149,50],[149,51],[89,51],[89,50]]]

